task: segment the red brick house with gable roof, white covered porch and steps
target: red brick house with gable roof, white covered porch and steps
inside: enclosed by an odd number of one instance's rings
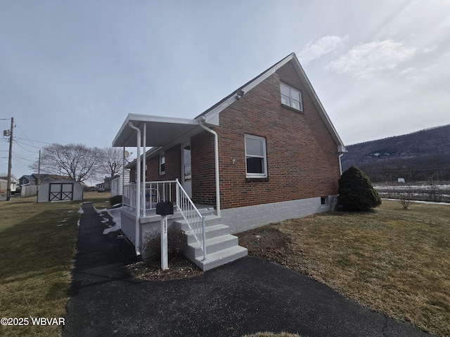
[[[122,208],[122,231],[137,254],[146,244],[146,232],[158,227],[160,217],[150,215],[155,201],[176,204],[169,225],[185,228],[176,217],[189,221],[178,183],[158,181],[179,180],[200,213],[214,207],[214,225],[227,226],[228,233],[241,232],[331,210],[345,152],[294,53],[195,119],[129,114],[113,146],[137,144],[143,144],[145,155],[137,147],[141,164],[127,166],[136,183],[124,193],[129,209]],[[237,239],[220,252],[214,246],[219,238],[202,239],[202,228],[189,232],[195,234],[196,247],[188,247],[186,255],[204,270],[246,254],[240,250],[229,258],[226,249],[236,251]],[[233,241],[230,234],[219,236]]]

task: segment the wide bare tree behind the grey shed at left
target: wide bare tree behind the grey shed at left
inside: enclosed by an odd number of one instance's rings
[[[102,150],[82,144],[46,145],[41,154],[41,171],[49,174],[67,174],[70,179],[83,182],[99,173]],[[30,165],[37,171],[38,161]]]

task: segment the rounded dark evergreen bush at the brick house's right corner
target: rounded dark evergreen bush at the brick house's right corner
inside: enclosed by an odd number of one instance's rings
[[[342,173],[338,193],[338,206],[345,211],[370,211],[381,204],[371,180],[354,166]]]

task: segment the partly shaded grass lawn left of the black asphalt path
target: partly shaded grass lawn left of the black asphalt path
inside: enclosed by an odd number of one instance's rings
[[[98,194],[84,200],[108,206],[109,194]],[[37,204],[36,197],[0,201],[0,317],[29,319],[1,326],[0,336],[60,336],[61,326],[33,326],[31,317],[65,316],[80,208],[80,201]]]

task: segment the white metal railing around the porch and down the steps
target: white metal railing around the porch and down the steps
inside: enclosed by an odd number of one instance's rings
[[[136,209],[137,190],[136,183],[124,185],[124,206]],[[181,216],[186,220],[190,232],[195,237],[195,241],[199,244],[200,249],[202,249],[203,259],[206,259],[205,217],[198,211],[178,179],[146,182],[145,189],[141,189],[139,197],[141,198],[141,210],[139,213],[144,215],[146,211],[156,209],[158,202],[172,201],[176,209],[181,213]]]

